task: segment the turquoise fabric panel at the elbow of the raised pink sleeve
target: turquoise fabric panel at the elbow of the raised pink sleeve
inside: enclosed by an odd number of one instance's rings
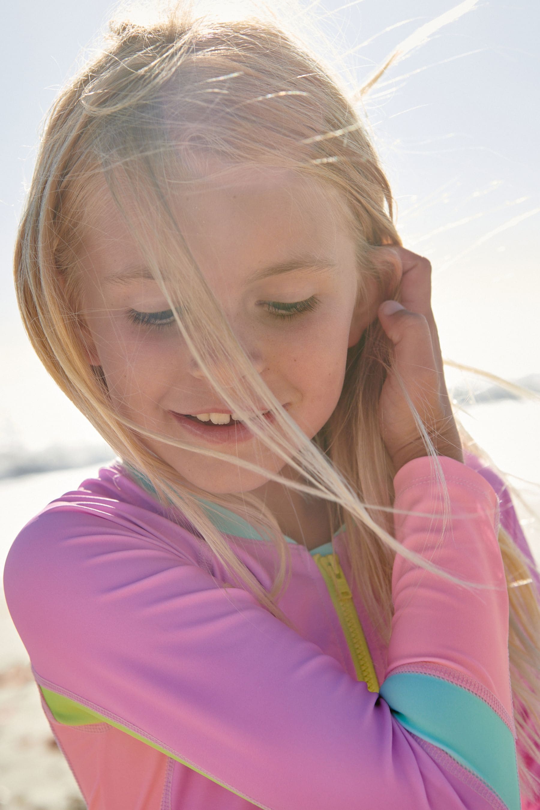
[[[509,810],[520,810],[512,731],[485,701],[448,680],[416,672],[389,676],[380,694],[408,731],[477,774]]]

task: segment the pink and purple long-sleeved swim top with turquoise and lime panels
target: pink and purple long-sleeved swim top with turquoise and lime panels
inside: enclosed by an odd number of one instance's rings
[[[397,556],[388,647],[351,595],[342,534],[334,555],[290,540],[279,605],[296,633],[217,586],[210,548],[119,462],[28,522],[6,599],[88,808],[519,810],[500,522],[532,558],[501,480],[471,456],[440,463],[442,542],[427,457],[395,477],[394,506],[428,515],[396,514],[396,537],[492,587]],[[273,545],[226,509],[212,519],[269,588]]]

